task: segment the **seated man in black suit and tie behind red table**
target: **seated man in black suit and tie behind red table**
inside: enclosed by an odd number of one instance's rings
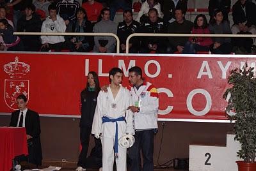
[[[29,163],[33,163],[38,166],[42,165],[39,115],[38,113],[29,110],[27,104],[28,99],[26,96],[24,94],[20,94],[17,97],[19,110],[12,113],[10,126],[26,128],[29,152],[29,155],[26,156],[26,160],[28,160]]]

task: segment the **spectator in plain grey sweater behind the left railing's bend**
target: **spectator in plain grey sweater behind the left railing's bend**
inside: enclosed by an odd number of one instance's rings
[[[101,21],[95,24],[94,33],[113,33],[116,34],[117,26],[115,22],[109,20],[109,8],[103,8],[100,12]],[[113,53],[115,51],[116,40],[112,36],[95,36],[93,52]]]

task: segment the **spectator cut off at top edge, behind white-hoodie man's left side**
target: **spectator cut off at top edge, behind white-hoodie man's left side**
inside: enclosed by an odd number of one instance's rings
[[[36,13],[40,15],[41,20],[45,20],[49,16],[48,6],[51,4],[47,0],[35,0],[33,3],[36,7]]]

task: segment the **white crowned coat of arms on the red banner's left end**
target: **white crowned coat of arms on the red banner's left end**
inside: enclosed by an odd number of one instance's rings
[[[4,64],[4,71],[10,79],[4,80],[4,101],[9,108],[17,110],[16,98],[19,94],[24,94],[29,100],[29,80],[24,77],[30,71],[29,64],[19,61],[19,57],[15,57],[15,61]]]

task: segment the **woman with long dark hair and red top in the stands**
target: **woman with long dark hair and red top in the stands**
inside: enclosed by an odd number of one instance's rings
[[[192,34],[210,34],[205,15],[199,14],[196,16],[192,29]],[[209,47],[211,44],[211,38],[190,37],[185,44],[182,54],[196,54],[196,52],[198,51],[209,51]]]

